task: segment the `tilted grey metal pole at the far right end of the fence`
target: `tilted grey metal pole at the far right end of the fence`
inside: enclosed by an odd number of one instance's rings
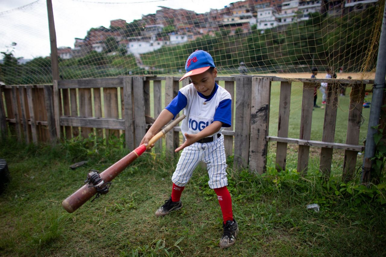
[[[381,2],[380,2],[381,3]],[[381,106],[386,77],[386,2],[383,10],[383,20],[381,27],[381,36],[379,37],[379,49],[377,67],[375,72],[374,86],[372,89],[371,109],[369,117],[369,126],[367,128],[366,146],[364,150],[361,182],[367,183],[371,179],[371,158],[375,154],[374,134],[377,129],[373,128],[379,124],[381,116]]]

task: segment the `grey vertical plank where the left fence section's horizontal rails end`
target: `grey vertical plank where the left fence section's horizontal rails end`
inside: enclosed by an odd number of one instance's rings
[[[134,150],[135,132],[134,132],[134,112],[133,112],[133,95],[132,77],[124,77],[124,119],[125,119],[125,143],[126,148],[130,151]]]

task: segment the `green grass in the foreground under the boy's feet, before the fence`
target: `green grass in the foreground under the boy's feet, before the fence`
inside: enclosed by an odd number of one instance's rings
[[[155,210],[171,191],[176,159],[146,153],[126,168],[110,192],[68,214],[61,202],[77,190],[88,170],[104,170],[127,154],[71,141],[25,146],[8,139],[0,156],[12,180],[0,195],[0,255],[3,256],[382,256],[385,251],[385,206],[376,197],[344,193],[340,167],[323,181],[312,152],[303,178],[293,170],[277,172],[270,151],[267,173],[233,171],[229,190],[240,232],[230,249],[220,249],[221,211],[208,188],[203,168],[183,192],[184,207],[157,218]],[[274,148],[274,144],[270,146]],[[296,160],[289,151],[289,167]],[[76,170],[69,165],[88,160]],[[342,153],[337,152],[337,163]],[[335,189],[342,191],[336,194]],[[382,191],[385,193],[385,190]],[[306,210],[319,203],[320,212]]]

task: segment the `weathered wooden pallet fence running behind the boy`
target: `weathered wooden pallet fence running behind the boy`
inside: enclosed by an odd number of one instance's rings
[[[189,79],[179,82],[173,76],[124,76],[98,79],[59,80],[53,85],[0,86],[0,130],[25,142],[56,142],[90,133],[108,139],[125,133],[125,146],[132,150],[141,142],[151,113],[157,118]],[[279,77],[217,77],[216,82],[232,97],[232,126],[223,130],[225,152],[234,155],[234,168],[251,172],[266,170],[267,144],[276,141],[277,170],[286,169],[287,144],[298,144],[298,172],[305,175],[310,147],[321,148],[320,170],[330,175],[333,149],[344,149],[344,181],[355,174],[361,126],[362,103],[366,84],[371,80],[296,79],[303,83],[299,138],[288,138],[291,80]],[[278,135],[269,135],[271,83],[280,82]],[[313,90],[320,82],[329,84],[322,141],[311,139]],[[340,84],[352,84],[346,143],[335,143],[337,94]],[[164,85],[164,86],[163,86]],[[150,99],[151,95],[153,96]],[[164,97],[164,98],[163,98]],[[162,101],[164,100],[164,104]],[[150,102],[154,109],[151,110]],[[103,133],[105,131],[105,134]],[[154,151],[174,155],[181,128],[176,126]],[[164,142],[162,142],[164,140]]]

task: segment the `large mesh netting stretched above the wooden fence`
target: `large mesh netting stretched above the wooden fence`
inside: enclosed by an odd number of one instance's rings
[[[181,76],[196,49],[220,76],[374,77],[384,0],[195,0],[201,13],[185,4],[54,1],[61,79]],[[46,2],[0,10],[0,23],[0,81],[52,82]]]

